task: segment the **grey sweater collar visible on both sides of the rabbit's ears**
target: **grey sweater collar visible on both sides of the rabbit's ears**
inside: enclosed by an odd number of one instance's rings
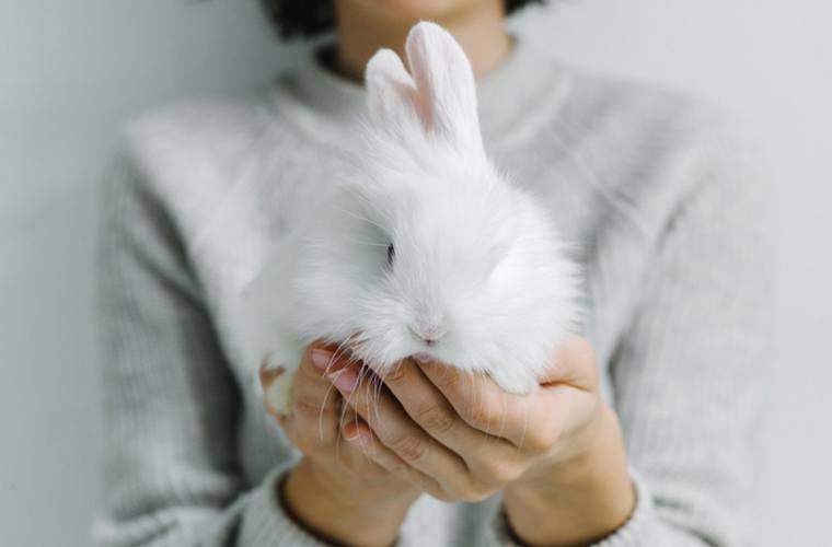
[[[518,39],[498,68],[477,79],[481,128],[486,147],[525,141],[551,120],[569,89],[566,71]],[[315,140],[337,144],[366,113],[366,92],[324,66],[321,50],[310,51],[299,70],[279,80],[275,103]]]

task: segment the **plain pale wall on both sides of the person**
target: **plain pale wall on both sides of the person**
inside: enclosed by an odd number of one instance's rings
[[[832,2],[581,0],[518,22],[571,63],[746,120],[778,187],[769,547],[820,545],[832,486]],[[96,191],[118,128],[299,59],[255,0],[0,0],[0,545],[89,545],[100,445]],[[764,478],[761,477],[761,480]]]

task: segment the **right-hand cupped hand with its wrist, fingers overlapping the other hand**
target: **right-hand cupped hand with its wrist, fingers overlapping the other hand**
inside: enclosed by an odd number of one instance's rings
[[[505,490],[513,531],[528,543],[582,545],[626,521],[635,503],[615,414],[599,395],[589,344],[567,341],[528,396],[436,362],[402,361],[383,385],[358,382],[358,365],[334,382],[369,424],[362,453],[396,456],[446,501]],[[371,433],[370,433],[371,432]]]

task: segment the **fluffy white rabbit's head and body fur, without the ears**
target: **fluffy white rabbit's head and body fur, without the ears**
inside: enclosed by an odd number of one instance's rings
[[[343,188],[328,235],[302,254],[308,331],[350,339],[380,373],[417,353],[492,374],[495,363],[542,366],[574,287],[551,223],[487,163],[434,160]]]

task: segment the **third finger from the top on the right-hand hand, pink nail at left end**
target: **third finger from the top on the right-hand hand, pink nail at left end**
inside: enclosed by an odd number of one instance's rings
[[[465,462],[417,426],[370,374],[366,368],[350,365],[331,377],[345,404],[363,418],[384,446],[443,488],[463,488],[469,477]]]

